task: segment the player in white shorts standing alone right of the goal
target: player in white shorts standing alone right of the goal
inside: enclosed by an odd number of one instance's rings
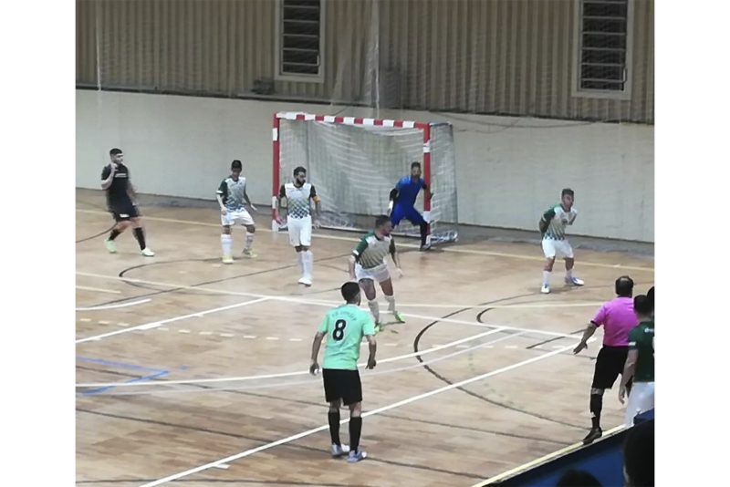
[[[542,273],[542,288],[540,292],[544,295],[550,292],[550,273],[553,272],[553,265],[557,257],[565,259],[565,282],[568,285],[583,285],[578,277],[573,275],[575,258],[573,247],[565,238],[565,229],[576,221],[578,212],[573,208],[573,190],[565,189],[560,194],[560,204],[550,207],[543,213],[539,227],[542,233],[542,250],[545,253],[547,262]]]

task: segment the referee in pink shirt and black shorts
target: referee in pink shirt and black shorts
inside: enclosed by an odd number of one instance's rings
[[[593,384],[590,386],[590,420],[592,426],[583,444],[588,445],[603,436],[600,429],[600,411],[603,409],[603,393],[613,387],[616,379],[623,373],[626,357],[629,355],[629,332],[639,324],[633,312],[633,281],[628,275],[616,279],[616,297],[603,303],[596,316],[590,320],[583,333],[578,347],[573,350],[578,354],[588,347],[588,340],[603,326],[603,347],[596,357],[596,369],[593,372]],[[631,389],[631,383],[627,389]]]

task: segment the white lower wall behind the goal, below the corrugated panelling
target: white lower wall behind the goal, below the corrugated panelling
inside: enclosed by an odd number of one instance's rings
[[[267,203],[276,111],[450,121],[460,223],[534,230],[571,187],[573,233],[654,240],[653,127],[87,90],[76,106],[81,188],[99,188],[110,148],[120,147],[140,192],[214,199],[230,161],[241,159],[249,195]]]

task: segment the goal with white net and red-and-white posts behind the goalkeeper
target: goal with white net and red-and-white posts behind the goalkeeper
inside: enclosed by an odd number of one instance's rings
[[[429,223],[431,244],[458,236],[454,132],[449,123],[360,119],[282,112],[274,116],[272,220],[282,184],[294,169],[307,178],[321,200],[325,228],[368,231],[375,216],[388,211],[391,190],[421,162],[429,192],[419,193],[416,209]],[[430,197],[431,196],[431,197]],[[278,229],[276,221],[273,228]],[[396,235],[420,237],[401,221]]]

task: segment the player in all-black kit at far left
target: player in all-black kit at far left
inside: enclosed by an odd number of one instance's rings
[[[110,164],[104,166],[101,171],[101,189],[107,192],[107,207],[114,217],[116,224],[104,244],[110,254],[117,252],[117,245],[114,241],[120,233],[132,227],[134,238],[140,244],[141,254],[145,257],[153,257],[154,252],[147,248],[144,238],[144,230],[140,222],[140,212],[134,200],[137,193],[130,181],[130,170],[124,165],[124,154],[120,149],[109,151]]]

